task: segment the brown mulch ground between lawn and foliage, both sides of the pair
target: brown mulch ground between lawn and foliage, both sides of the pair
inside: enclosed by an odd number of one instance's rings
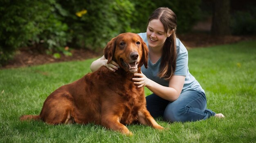
[[[208,47],[212,45],[220,45],[227,43],[236,43],[238,41],[256,39],[255,37],[245,36],[224,36],[224,37],[213,37],[206,33],[193,33],[186,35],[177,35],[187,49],[195,47]],[[17,51],[16,56],[13,60],[9,61],[7,65],[0,67],[4,68],[16,68],[16,67],[28,67],[31,65],[42,65],[45,63],[54,63],[62,61],[74,61],[84,60],[88,58],[95,58],[103,55],[101,52],[93,52],[88,49],[74,49],[71,50],[73,56],[61,55],[61,58],[54,58],[52,55],[47,55],[44,52],[40,52],[33,48],[24,48]]]

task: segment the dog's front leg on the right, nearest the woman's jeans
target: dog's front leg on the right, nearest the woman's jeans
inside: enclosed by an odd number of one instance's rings
[[[138,118],[139,123],[152,126],[153,128],[156,128],[156,129],[164,129],[162,126],[157,124],[155,119],[150,115],[150,113],[146,109],[139,111],[138,116],[139,116]]]

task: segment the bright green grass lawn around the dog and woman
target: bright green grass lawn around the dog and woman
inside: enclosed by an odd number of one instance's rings
[[[255,41],[189,50],[189,70],[206,91],[207,108],[225,119],[167,123],[158,118],[165,130],[129,125],[132,137],[93,124],[19,121],[20,115],[39,114],[49,93],[90,72],[93,60],[0,70],[0,143],[256,142]]]

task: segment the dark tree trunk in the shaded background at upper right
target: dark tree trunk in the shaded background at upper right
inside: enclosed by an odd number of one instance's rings
[[[212,35],[230,35],[230,2],[229,0],[213,0]]]

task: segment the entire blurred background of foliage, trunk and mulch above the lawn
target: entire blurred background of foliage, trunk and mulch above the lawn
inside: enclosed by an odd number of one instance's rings
[[[146,32],[158,7],[175,12],[186,48],[255,39],[255,0],[0,0],[0,68],[97,57],[120,33]]]

